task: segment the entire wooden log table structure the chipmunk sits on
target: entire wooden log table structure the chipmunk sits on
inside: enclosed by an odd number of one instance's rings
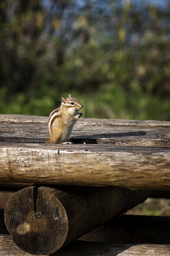
[[[170,255],[170,217],[119,217],[170,190],[170,122],[82,118],[63,145],[47,120],[0,115],[0,255]]]

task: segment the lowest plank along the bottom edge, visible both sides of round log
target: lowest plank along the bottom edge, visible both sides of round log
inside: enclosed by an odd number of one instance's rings
[[[13,242],[9,235],[0,235],[0,256],[29,256]],[[76,241],[51,256],[169,256],[170,245],[162,244],[113,244]],[[44,255],[44,256],[50,256]],[[35,255],[34,255],[35,256]]]

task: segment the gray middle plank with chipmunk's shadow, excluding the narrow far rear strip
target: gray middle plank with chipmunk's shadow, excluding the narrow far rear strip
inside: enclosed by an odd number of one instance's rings
[[[45,143],[49,138],[46,123],[0,123],[0,141]],[[117,126],[87,126],[78,122],[71,134],[75,144],[112,144],[120,146],[170,147],[169,128],[133,128]]]

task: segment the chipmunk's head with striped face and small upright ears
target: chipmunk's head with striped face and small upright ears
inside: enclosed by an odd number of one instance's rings
[[[61,104],[68,108],[71,114],[78,114],[79,110],[83,107],[79,100],[73,98],[71,94],[68,95],[68,98],[61,97]]]

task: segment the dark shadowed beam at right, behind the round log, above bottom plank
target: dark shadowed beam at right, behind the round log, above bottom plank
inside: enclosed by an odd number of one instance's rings
[[[121,215],[79,240],[93,242],[169,244],[170,217]]]

